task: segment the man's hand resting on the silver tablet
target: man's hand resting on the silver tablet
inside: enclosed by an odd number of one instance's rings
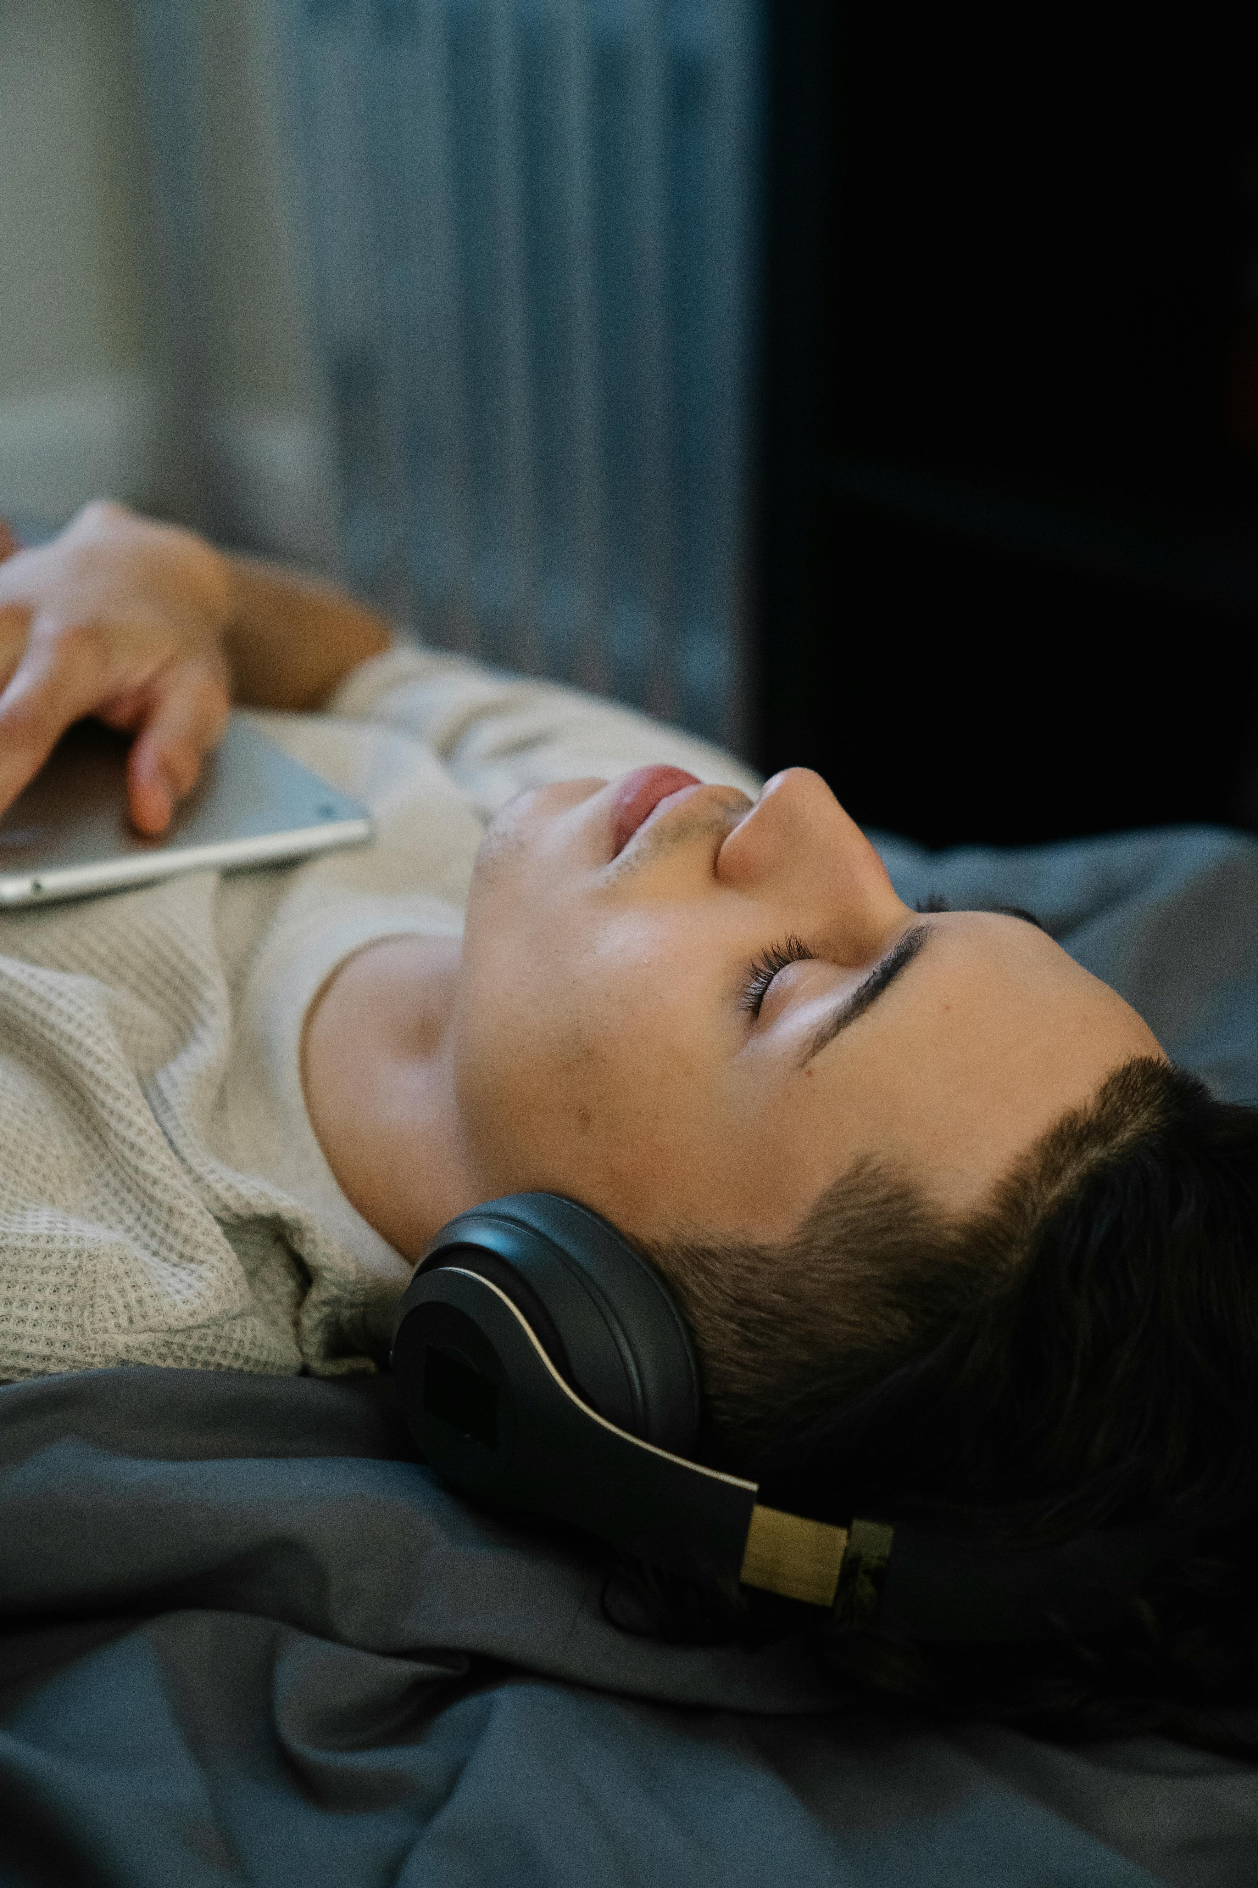
[[[0,531],[0,812],[72,721],[134,731],[134,825],[160,833],[232,699],[232,570],[204,538],[96,500],[36,549]]]

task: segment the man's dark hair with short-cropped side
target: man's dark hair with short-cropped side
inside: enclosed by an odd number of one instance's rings
[[[1103,1639],[830,1639],[854,1684],[1045,1735],[1252,1748],[1218,1714],[1258,1701],[1258,1108],[1137,1059],[968,1218],[862,1163],[783,1246],[649,1256],[696,1335],[707,1456],[764,1501],[992,1546],[1166,1533]],[[732,1631],[783,1616],[719,1605]]]

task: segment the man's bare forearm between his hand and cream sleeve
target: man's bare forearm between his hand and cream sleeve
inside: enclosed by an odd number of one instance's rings
[[[319,708],[351,668],[389,648],[389,625],[336,583],[262,557],[228,557],[223,646],[232,697],[251,708]]]

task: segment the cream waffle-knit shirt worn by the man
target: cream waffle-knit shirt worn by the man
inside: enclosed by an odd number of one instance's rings
[[[300,1082],[353,950],[458,935],[526,785],[728,755],[609,702],[396,648],[321,716],[257,716],[373,844],[0,916],[0,1378],[104,1363],[370,1369],[409,1265],[349,1205]]]

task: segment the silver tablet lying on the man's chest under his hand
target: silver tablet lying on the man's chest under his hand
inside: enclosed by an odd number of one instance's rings
[[[360,846],[372,816],[241,716],[158,838],[126,818],[128,734],[79,721],[0,818],[0,906],[47,904],[172,872],[273,865]]]

